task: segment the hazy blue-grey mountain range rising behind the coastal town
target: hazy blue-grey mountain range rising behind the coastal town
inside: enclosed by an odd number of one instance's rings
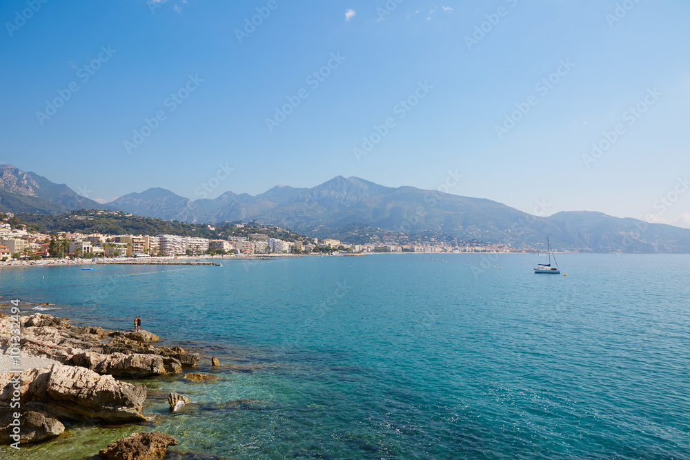
[[[122,210],[188,223],[257,220],[316,237],[364,223],[398,232],[431,230],[464,239],[591,252],[690,252],[690,230],[601,212],[558,212],[537,217],[497,201],[414,187],[391,188],[335,177],[313,188],[275,186],[257,194],[225,192],[192,201],[163,188],[130,193],[100,204],[65,184],[0,166],[0,212],[57,214],[75,209]]]

